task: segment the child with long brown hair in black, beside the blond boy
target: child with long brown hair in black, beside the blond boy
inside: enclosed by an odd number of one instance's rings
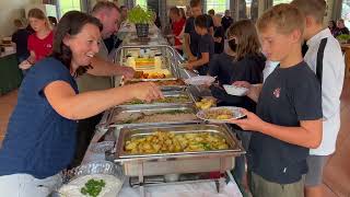
[[[242,20],[228,30],[225,53],[217,55],[209,63],[209,76],[217,77],[219,86],[211,85],[210,90],[219,100],[218,106],[237,106],[255,112],[256,103],[247,96],[229,95],[223,84],[232,84],[235,81],[249,81],[250,84],[262,82],[262,70],[266,58],[261,54],[261,46],[257,31],[250,20]],[[242,140],[243,147],[247,150],[249,146],[249,131],[242,131],[241,128],[232,125],[237,137]],[[248,154],[247,154],[248,157]],[[238,185],[242,186],[245,174],[245,157],[235,160],[233,175]]]

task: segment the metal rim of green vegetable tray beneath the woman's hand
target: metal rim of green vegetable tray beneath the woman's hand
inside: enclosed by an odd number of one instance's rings
[[[160,102],[152,102],[152,103],[142,103],[142,104],[130,104],[126,103],[122,105],[119,105],[121,107],[129,107],[129,106],[168,106],[168,105],[179,105],[179,104],[194,104],[196,102],[196,99],[192,96],[192,94],[188,90],[184,91],[164,91],[163,92],[164,97],[178,97],[178,96],[187,96],[188,101],[186,102],[173,102],[173,103],[160,103]]]

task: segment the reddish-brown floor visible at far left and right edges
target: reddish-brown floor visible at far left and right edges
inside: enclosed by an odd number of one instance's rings
[[[18,91],[0,96],[0,146],[7,124],[16,104]],[[350,197],[350,79],[341,96],[341,128],[337,151],[330,155],[324,172],[324,197]]]

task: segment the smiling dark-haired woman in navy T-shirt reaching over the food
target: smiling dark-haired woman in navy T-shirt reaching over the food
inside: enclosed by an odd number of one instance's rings
[[[61,183],[74,155],[77,120],[135,99],[162,99],[154,83],[80,93],[77,77],[93,69],[102,24],[79,11],[66,13],[56,28],[52,55],[23,80],[0,149],[0,194],[46,197]]]

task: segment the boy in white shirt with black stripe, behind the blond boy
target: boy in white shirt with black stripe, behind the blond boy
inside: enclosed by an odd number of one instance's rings
[[[325,0],[293,0],[291,4],[305,15],[304,39],[308,50],[304,60],[322,84],[323,140],[317,149],[310,150],[308,173],[305,177],[305,196],[322,196],[322,175],[326,157],[334,153],[340,128],[340,94],[343,84],[345,60],[339,42],[324,27]]]

